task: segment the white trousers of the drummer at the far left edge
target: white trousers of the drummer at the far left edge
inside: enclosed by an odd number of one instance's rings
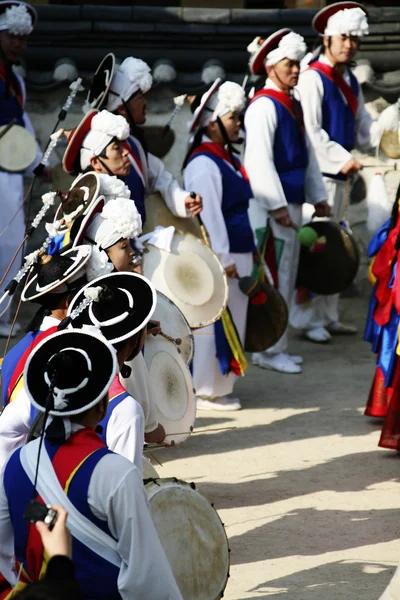
[[[23,198],[22,175],[5,173],[0,171],[0,232],[7,226],[20,206]],[[0,236],[0,279],[3,277],[14,256],[18,245],[22,242],[25,234],[25,216],[22,208],[10,227]],[[7,284],[15,277],[21,267],[21,253],[15,259],[3,284],[0,286],[0,297],[3,296]],[[7,300],[0,306],[0,313],[6,307]],[[0,324],[10,322],[10,309],[0,317]]]

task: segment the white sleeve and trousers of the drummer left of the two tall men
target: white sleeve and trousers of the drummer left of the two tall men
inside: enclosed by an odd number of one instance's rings
[[[203,141],[210,142],[206,136]],[[226,162],[233,169],[232,165]],[[232,253],[222,204],[222,175],[215,162],[207,156],[197,156],[186,167],[185,186],[195,189],[203,197],[201,217],[210,236],[211,247],[224,267],[236,264],[241,277],[250,275],[253,256],[251,252]],[[244,343],[248,298],[239,289],[237,279],[229,279],[229,303],[233,321],[240,340]],[[222,375],[216,358],[214,326],[194,331],[195,352],[193,382],[196,394],[202,398],[219,398],[232,393],[237,376]]]

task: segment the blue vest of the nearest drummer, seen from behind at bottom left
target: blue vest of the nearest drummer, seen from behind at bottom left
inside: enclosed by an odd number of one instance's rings
[[[60,444],[51,445],[45,440],[45,445],[51,460],[53,460]],[[16,450],[6,465],[4,489],[14,530],[15,556],[26,567],[26,544],[30,524],[23,518],[23,513],[32,497],[32,483],[21,465],[20,453],[21,449]],[[107,448],[100,448],[84,460],[72,477],[67,495],[80,513],[102,531],[111,535],[107,523],[94,516],[87,501],[93,470],[103,456],[108,453],[110,451]],[[76,568],[76,580],[85,600],[120,600],[117,586],[119,569],[115,565],[90,550],[76,538],[73,538],[72,543],[72,559]],[[28,573],[28,575],[30,574]]]

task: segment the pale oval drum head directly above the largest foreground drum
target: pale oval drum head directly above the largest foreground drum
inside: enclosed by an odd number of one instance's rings
[[[156,400],[157,419],[167,443],[181,444],[190,435],[196,418],[196,403],[190,371],[176,345],[161,336],[148,336],[144,360]]]

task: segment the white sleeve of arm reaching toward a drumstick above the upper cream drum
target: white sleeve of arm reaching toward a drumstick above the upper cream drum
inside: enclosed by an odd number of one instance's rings
[[[147,155],[148,162],[148,192],[160,192],[166,205],[177,217],[190,216],[186,210],[185,199],[188,192],[183,190],[179,183],[174,179],[169,171],[164,167],[164,163],[154,156]],[[197,192],[197,190],[195,190]],[[197,192],[198,193],[198,192]]]

